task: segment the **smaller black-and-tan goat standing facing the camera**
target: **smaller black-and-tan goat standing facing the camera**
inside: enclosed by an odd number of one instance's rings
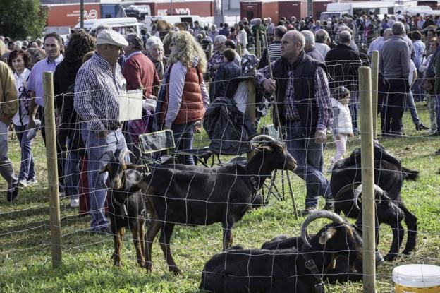
[[[142,191],[136,183],[142,179],[142,174],[135,169],[137,167],[124,161],[126,152],[118,155],[108,151],[110,161],[100,173],[109,172],[109,218],[111,232],[114,235],[114,253],[111,258],[114,265],[122,265],[121,248],[125,228],[129,228],[133,234],[138,263],[144,265],[145,251],[145,199]]]

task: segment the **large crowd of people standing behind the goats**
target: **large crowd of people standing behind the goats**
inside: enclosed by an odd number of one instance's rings
[[[80,177],[86,177],[86,209],[94,232],[109,231],[104,213],[107,175],[99,172],[109,160],[106,154],[130,150],[126,162],[139,162],[138,136],[167,128],[177,150],[193,148],[193,133],[200,131],[210,102],[228,96],[229,80],[251,73],[262,96],[270,100],[274,95],[274,124],[298,162],[295,173],[306,182],[303,213],[317,210],[319,196],[331,210],[334,199],[324,176],[327,134],[336,143],[331,172],[346,152],[348,138],[359,133],[357,69],[369,66],[373,50],[379,51],[382,136],[403,136],[405,109],[417,131],[440,135],[438,23],[438,17],[398,13],[379,20],[362,13],[322,22],[293,16],[276,25],[270,18],[252,26],[243,19],[231,28],[221,23],[219,29],[195,22],[194,28],[172,30],[163,40],[145,30],[123,36],[108,27],[92,34],[75,30],[68,40],[56,33],[35,42],[0,37],[0,55],[7,59],[7,64],[0,62],[0,173],[8,183],[7,199],[13,201],[20,187],[37,183],[32,140],[39,128],[46,142],[44,71],[54,73],[60,193],[70,197],[71,207],[78,207]],[[262,41],[257,35],[269,42],[261,60],[250,54]],[[249,71],[249,64],[255,71]],[[121,124],[118,98],[138,89],[144,99],[142,118]],[[417,115],[415,101],[422,100],[429,108],[429,128]],[[18,176],[7,155],[11,124],[21,147]],[[191,155],[178,160],[195,164]]]

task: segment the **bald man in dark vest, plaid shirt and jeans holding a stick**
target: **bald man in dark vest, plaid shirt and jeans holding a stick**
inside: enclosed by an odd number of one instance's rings
[[[332,122],[329,81],[319,61],[304,52],[305,39],[289,31],[281,39],[281,58],[257,71],[256,80],[267,92],[274,92],[278,108],[275,126],[285,126],[288,152],[298,163],[295,174],[306,182],[304,214],[317,210],[319,196],[325,209],[333,209],[333,197],[324,171],[323,144]]]

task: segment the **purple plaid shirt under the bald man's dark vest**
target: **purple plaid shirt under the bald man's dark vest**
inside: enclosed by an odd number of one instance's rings
[[[272,68],[274,68],[275,62],[271,63]],[[266,66],[256,74],[257,83],[262,85],[263,81],[269,78],[269,66]],[[286,95],[284,96],[284,116],[286,120],[298,120],[300,115],[298,114],[298,108],[295,107],[295,89],[293,88],[293,76],[294,71],[288,72],[288,81],[286,84]],[[318,121],[317,130],[326,131],[326,128],[330,127],[332,124],[332,113],[331,113],[331,100],[330,100],[330,89],[329,80],[327,79],[324,69],[318,66],[317,71],[314,76],[314,97],[317,100],[318,108]]]

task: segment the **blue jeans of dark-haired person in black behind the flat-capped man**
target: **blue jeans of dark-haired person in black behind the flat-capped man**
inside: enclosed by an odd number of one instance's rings
[[[66,178],[64,184],[71,198],[79,198],[78,186],[80,185],[80,153],[78,150],[73,149],[73,141],[68,140],[68,153],[66,158],[66,165],[64,167],[64,173]]]

